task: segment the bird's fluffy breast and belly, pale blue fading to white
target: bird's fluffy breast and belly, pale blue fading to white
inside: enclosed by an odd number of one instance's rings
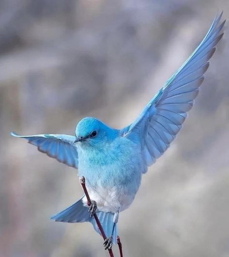
[[[141,181],[141,153],[126,138],[95,151],[79,151],[79,176],[84,176],[98,209],[117,212],[133,201]]]

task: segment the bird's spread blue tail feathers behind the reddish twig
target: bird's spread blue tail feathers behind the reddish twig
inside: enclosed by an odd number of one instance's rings
[[[84,197],[84,196],[83,196]],[[51,219],[55,221],[76,223],[76,222],[91,222],[96,232],[100,234],[94,217],[90,218],[88,207],[84,206],[82,198],[78,199],[73,205],[67,207],[61,212],[54,214]],[[96,212],[99,221],[104,229],[107,237],[112,233],[114,213],[111,212]],[[113,243],[116,243],[118,236],[118,225],[116,224],[113,233]]]

